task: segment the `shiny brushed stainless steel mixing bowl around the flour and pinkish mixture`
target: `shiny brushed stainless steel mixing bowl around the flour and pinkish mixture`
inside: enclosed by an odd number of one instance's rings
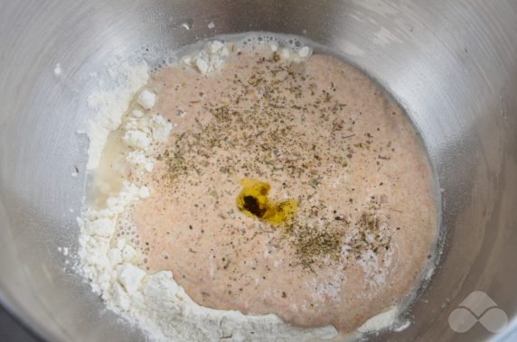
[[[89,73],[116,55],[146,53],[156,64],[200,38],[269,31],[330,46],[378,79],[408,110],[436,168],[447,231],[440,266],[409,312],[414,323],[377,338],[517,339],[517,1],[0,4],[0,300],[42,337],[143,338],[103,309],[58,251],[78,245],[88,141],[77,130],[90,115]],[[449,313],[471,291],[507,313],[506,332],[449,328]]]

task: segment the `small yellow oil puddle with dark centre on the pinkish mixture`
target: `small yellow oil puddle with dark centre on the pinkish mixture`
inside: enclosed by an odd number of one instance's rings
[[[298,202],[295,199],[287,199],[274,202],[268,199],[271,186],[263,180],[240,180],[242,190],[237,197],[237,208],[249,217],[257,217],[272,225],[280,225],[287,222],[296,213]]]

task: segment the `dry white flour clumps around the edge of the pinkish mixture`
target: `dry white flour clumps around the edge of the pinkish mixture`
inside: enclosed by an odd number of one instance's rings
[[[272,45],[272,50],[277,50]],[[311,51],[299,52],[280,49],[282,58],[305,58]],[[211,72],[220,69],[229,51],[220,42],[211,42],[194,57],[183,63]],[[153,148],[164,143],[173,124],[163,116],[150,116],[146,111],[159,98],[146,89],[149,79],[146,63],[122,65],[119,72],[110,72],[116,88],[103,88],[88,98],[88,104],[98,116],[88,125],[88,169],[99,166],[101,153],[108,135],[122,127],[122,141],[129,152],[127,167],[134,172],[153,171]],[[136,98],[135,110],[125,116],[130,102]],[[118,216],[128,205],[152,196],[152,189],[137,187],[124,181],[122,189],[109,197],[101,208],[86,208],[80,225],[81,273],[91,281],[91,288],[106,302],[110,310],[144,329],[148,337],[157,341],[309,341],[332,339],[334,327],[297,328],[276,315],[244,315],[233,310],[212,310],[196,304],[174,282],[172,272],[147,274],[136,266],[141,255],[124,238],[115,236]],[[396,315],[381,314],[370,319],[360,331],[390,326]]]

